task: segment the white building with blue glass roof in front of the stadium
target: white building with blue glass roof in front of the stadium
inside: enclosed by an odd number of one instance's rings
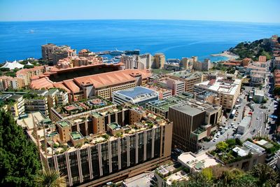
[[[113,103],[116,104],[132,103],[138,104],[139,106],[146,106],[146,103],[158,99],[158,92],[141,86],[113,92]]]

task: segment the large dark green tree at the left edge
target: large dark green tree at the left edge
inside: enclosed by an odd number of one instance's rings
[[[35,186],[41,168],[37,147],[27,139],[10,113],[0,110],[0,184]]]

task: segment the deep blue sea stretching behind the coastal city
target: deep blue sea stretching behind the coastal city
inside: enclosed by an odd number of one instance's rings
[[[32,32],[31,32],[32,31]],[[167,58],[211,57],[241,41],[280,34],[279,24],[190,20],[67,20],[0,22],[0,62],[41,57],[41,45],[165,53]]]

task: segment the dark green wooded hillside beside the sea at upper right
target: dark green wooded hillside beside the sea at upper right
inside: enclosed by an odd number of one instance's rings
[[[256,61],[259,56],[266,56],[267,60],[272,58],[272,50],[269,43],[265,42],[265,39],[256,40],[252,43],[244,41],[238,43],[234,48],[230,48],[229,51],[239,55],[241,59],[249,57]]]

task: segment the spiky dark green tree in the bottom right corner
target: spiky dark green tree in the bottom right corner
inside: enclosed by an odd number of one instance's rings
[[[268,165],[254,165],[250,174],[257,178],[258,186],[276,186],[278,175]]]

